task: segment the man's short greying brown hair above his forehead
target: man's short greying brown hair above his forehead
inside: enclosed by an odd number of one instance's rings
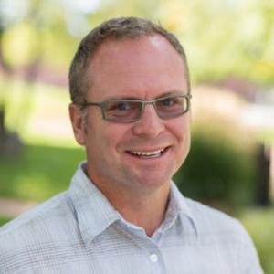
[[[187,89],[190,91],[190,77],[184,48],[174,34],[168,32],[159,24],[138,17],[118,17],[105,21],[82,39],[69,68],[69,92],[72,102],[83,103],[89,90],[86,80],[86,70],[90,59],[100,45],[108,40],[134,39],[138,37],[164,37],[179,53],[184,61]]]

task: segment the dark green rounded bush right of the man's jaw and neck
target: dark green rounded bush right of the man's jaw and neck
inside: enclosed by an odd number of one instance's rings
[[[234,142],[227,135],[227,128],[225,123],[214,132],[195,129],[190,153],[174,175],[174,181],[184,195],[205,203],[232,207],[253,204],[257,175],[255,147]],[[229,131],[236,129],[229,127]]]

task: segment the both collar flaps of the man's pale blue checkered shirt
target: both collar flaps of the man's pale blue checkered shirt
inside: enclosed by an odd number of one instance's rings
[[[85,174],[85,168],[86,163],[79,164],[77,172],[72,177],[68,196],[75,208],[81,237],[84,243],[88,244],[111,224],[121,220],[121,215],[100,190],[92,184]],[[159,227],[160,230],[172,227],[177,217],[180,218],[184,227],[188,226],[189,229],[193,229],[197,237],[198,230],[191,209],[176,185],[172,183],[168,209],[163,224]]]

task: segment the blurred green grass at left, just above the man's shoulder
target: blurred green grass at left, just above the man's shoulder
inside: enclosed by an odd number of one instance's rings
[[[68,188],[80,148],[28,144],[16,160],[0,161],[0,196],[43,201]]]

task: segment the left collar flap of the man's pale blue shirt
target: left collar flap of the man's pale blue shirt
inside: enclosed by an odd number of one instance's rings
[[[90,182],[84,172],[85,165],[86,163],[79,164],[77,172],[72,177],[68,196],[75,208],[81,237],[84,243],[88,244],[120,219],[120,215],[100,190]]]

